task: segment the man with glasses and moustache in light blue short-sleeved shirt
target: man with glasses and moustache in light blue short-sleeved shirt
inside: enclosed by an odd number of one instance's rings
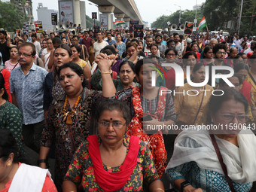
[[[20,46],[20,67],[10,75],[10,90],[14,105],[23,114],[23,139],[25,145],[39,153],[41,132],[44,129],[44,78],[47,71],[33,63],[35,45]]]

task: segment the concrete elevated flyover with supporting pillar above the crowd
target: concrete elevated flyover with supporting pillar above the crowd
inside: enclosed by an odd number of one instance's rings
[[[111,29],[111,13],[117,19],[126,21],[127,26],[130,20],[139,20],[143,24],[142,17],[134,0],[89,0],[99,6],[99,11],[108,14],[108,29]]]

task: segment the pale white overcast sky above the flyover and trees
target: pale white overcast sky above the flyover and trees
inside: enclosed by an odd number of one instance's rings
[[[102,0],[104,1],[104,0]],[[121,0],[120,0],[121,1]],[[134,0],[136,2],[139,13],[142,16],[142,20],[148,21],[148,23],[153,23],[157,20],[157,17],[164,15],[170,15],[175,11],[179,10],[178,6],[181,6],[181,11],[186,9],[192,10],[194,5],[200,5],[206,0]],[[8,2],[4,0],[3,2]],[[48,9],[58,10],[58,0],[32,0],[33,15],[36,21],[38,3],[43,3],[44,7]],[[86,14],[91,17],[92,12],[97,12],[98,8],[95,5],[89,5],[90,1],[86,2]],[[178,6],[176,6],[178,5]]]

